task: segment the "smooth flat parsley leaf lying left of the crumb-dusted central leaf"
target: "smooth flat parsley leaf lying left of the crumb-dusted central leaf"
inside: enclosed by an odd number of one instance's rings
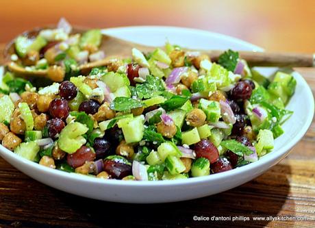
[[[144,103],[129,97],[116,97],[112,103],[110,103],[110,109],[118,112],[129,111],[136,107],[142,107]]]

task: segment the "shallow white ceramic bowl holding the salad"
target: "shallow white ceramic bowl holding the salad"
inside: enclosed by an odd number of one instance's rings
[[[173,44],[193,49],[236,49],[262,51],[259,47],[208,31],[178,27],[120,27],[105,34],[145,45],[162,46],[166,38]],[[280,162],[303,137],[312,123],[314,99],[306,81],[298,73],[297,90],[287,108],[294,114],[283,125],[285,134],[275,140],[275,149],[259,161],[225,173],[174,181],[119,181],[64,173],[40,166],[0,146],[0,155],[12,166],[53,188],[83,197],[123,203],[164,203],[209,196],[240,186]],[[14,179],[12,179],[14,181]]]

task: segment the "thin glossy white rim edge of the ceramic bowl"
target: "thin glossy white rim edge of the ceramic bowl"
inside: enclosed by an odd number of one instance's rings
[[[199,29],[189,29],[189,28],[183,28],[183,27],[163,27],[163,26],[135,26],[135,27],[117,27],[117,28],[112,28],[112,29],[104,29],[103,31],[106,33],[107,31],[114,31],[115,29],[180,29],[180,30],[186,30],[190,32],[196,32],[196,33],[205,33],[205,34],[211,34],[212,36],[217,36],[220,38],[225,38],[228,40],[233,40],[234,42],[238,42],[239,44],[247,45],[253,47],[253,50],[255,51],[263,51],[260,47],[257,47],[255,45],[251,45],[247,42],[244,42],[242,40],[238,40],[237,38],[231,38],[229,36],[221,35],[221,34],[216,34],[212,33],[210,31],[203,31]],[[296,77],[301,77],[301,75],[297,75]],[[26,160],[23,157],[20,157],[19,155],[16,155],[15,153],[12,153],[12,151],[9,151],[8,149],[5,149],[3,146],[0,145],[1,151],[5,153],[8,157],[11,157],[14,160],[19,160],[20,162],[23,162],[27,164],[28,166],[32,166],[32,168],[36,169],[38,172],[42,172],[45,174],[53,175],[55,177],[62,177],[64,179],[75,179],[76,181],[84,181],[87,183],[99,183],[103,185],[108,185],[108,186],[139,186],[139,187],[144,187],[144,186],[181,186],[185,185],[187,183],[202,183],[204,181],[214,181],[217,179],[222,179],[223,177],[225,179],[229,177],[233,177],[234,175],[242,175],[243,173],[250,172],[252,168],[259,168],[263,167],[264,165],[268,164],[269,162],[273,160],[277,160],[279,157],[283,156],[286,154],[286,151],[289,151],[292,149],[294,144],[297,144],[299,140],[304,136],[306,133],[307,129],[310,127],[314,115],[314,97],[312,95],[312,90],[310,90],[310,87],[307,86],[307,82],[303,77],[301,77],[301,81],[303,83],[303,87],[305,90],[307,90],[307,97],[310,97],[310,100],[307,101],[307,105],[309,107],[309,112],[310,115],[307,116],[307,120],[303,123],[301,126],[301,129],[297,136],[292,138],[290,143],[286,144],[284,147],[279,149],[278,151],[271,151],[270,153],[264,155],[263,157],[260,158],[257,162],[253,162],[251,164],[247,164],[245,166],[239,167],[239,168],[234,168],[233,170],[229,170],[224,173],[216,173],[215,175],[208,175],[204,177],[193,177],[193,178],[188,178],[188,179],[177,179],[177,180],[168,180],[168,181],[121,181],[121,180],[116,180],[116,179],[109,179],[104,181],[103,179],[98,179],[98,178],[93,178],[93,177],[88,177],[86,175],[78,175],[76,173],[66,173],[62,170],[55,170],[51,168],[47,168],[45,166],[41,166],[40,164],[37,164],[36,162],[31,162],[29,160]],[[311,115],[312,114],[312,115]],[[286,134],[286,133],[284,133]],[[281,137],[281,136],[280,136]]]

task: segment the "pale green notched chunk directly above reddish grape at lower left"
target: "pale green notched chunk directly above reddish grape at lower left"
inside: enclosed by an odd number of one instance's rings
[[[75,153],[82,145],[86,143],[86,139],[82,136],[86,134],[88,127],[79,122],[73,122],[60,132],[58,146],[66,153]]]

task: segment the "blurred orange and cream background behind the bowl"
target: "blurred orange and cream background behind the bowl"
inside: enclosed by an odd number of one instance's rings
[[[61,16],[88,27],[194,27],[235,36],[270,51],[315,51],[313,0],[1,0],[0,42],[32,27],[57,23]]]

